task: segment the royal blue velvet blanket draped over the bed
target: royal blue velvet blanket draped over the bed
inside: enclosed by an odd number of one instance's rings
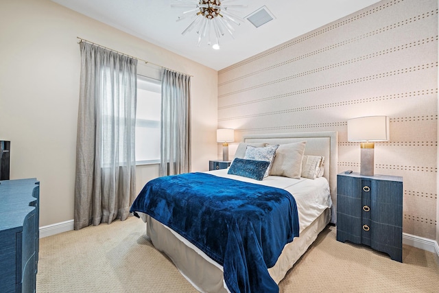
[[[298,236],[289,192],[205,173],[151,180],[132,204],[224,268],[230,292],[278,292],[268,268]]]

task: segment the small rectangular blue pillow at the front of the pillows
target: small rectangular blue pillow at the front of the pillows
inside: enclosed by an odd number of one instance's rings
[[[262,180],[270,165],[269,161],[255,161],[236,158],[228,168],[227,174]]]

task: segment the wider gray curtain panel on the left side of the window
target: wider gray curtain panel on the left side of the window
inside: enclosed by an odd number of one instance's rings
[[[135,198],[137,59],[80,43],[75,230],[126,220]]]

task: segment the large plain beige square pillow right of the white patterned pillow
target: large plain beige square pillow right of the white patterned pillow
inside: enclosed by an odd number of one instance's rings
[[[270,175],[300,178],[302,172],[302,156],[306,141],[285,143],[276,150]]]

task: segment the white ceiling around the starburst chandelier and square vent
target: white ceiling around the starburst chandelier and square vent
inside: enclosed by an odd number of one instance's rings
[[[193,30],[182,36],[191,18],[177,22],[187,8],[171,8],[174,0],[51,0],[71,10],[106,23],[123,32],[219,70],[259,54],[276,45],[315,30],[379,0],[223,0],[224,5],[244,4],[234,13],[244,18],[263,5],[275,19],[258,28],[248,20],[235,27],[233,34],[220,38],[221,49],[198,44]],[[190,1],[190,0],[189,0]],[[196,0],[193,0],[196,3]],[[195,13],[195,12],[194,12]],[[84,37],[85,36],[80,36]],[[93,40],[91,40],[93,41]],[[104,44],[102,44],[104,45]]]

